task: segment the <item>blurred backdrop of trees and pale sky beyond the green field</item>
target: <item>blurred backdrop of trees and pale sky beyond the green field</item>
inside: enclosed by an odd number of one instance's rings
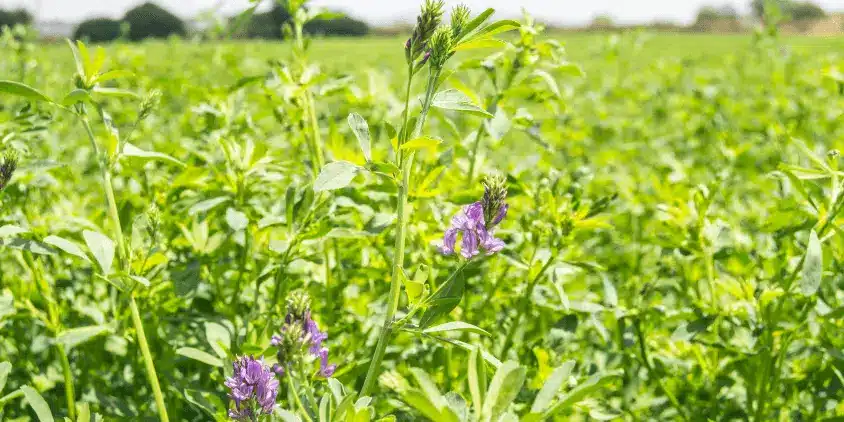
[[[775,0],[785,14],[786,34],[844,34],[844,0]],[[448,3],[457,3],[448,2]],[[763,0],[463,0],[474,10],[496,9],[500,18],[522,9],[556,31],[652,29],[743,33],[758,26]],[[395,35],[410,32],[417,0],[317,0],[314,7],[338,12],[310,24],[328,36]],[[41,39],[93,42],[149,37],[282,38],[288,16],[272,1],[249,0],[0,0],[0,26],[31,24]],[[246,19],[246,18],[249,19]]]

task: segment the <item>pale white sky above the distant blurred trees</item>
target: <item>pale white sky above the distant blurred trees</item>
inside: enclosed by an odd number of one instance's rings
[[[0,0],[0,8],[24,7],[38,21],[79,22],[92,17],[119,18],[144,0]],[[316,6],[338,9],[373,24],[412,20],[422,0],[312,0]],[[844,0],[814,0],[830,11],[844,11]],[[249,0],[155,0],[171,12],[191,18],[203,11],[235,14],[249,6]],[[266,1],[269,3],[269,1]],[[516,17],[525,8],[545,22],[583,24],[607,14],[619,23],[654,20],[692,22],[704,5],[732,5],[742,13],[750,0],[446,0],[451,6],[465,3],[472,10],[496,9],[499,17]]]

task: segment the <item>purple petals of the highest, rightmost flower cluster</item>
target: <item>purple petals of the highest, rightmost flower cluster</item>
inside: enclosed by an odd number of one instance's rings
[[[478,201],[463,207],[451,219],[451,227],[445,231],[443,246],[440,249],[443,254],[451,255],[457,243],[457,235],[463,234],[460,255],[469,259],[480,253],[483,249],[487,255],[492,255],[504,248],[504,241],[492,234],[493,228],[507,215],[507,204],[502,204],[492,221],[485,221],[484,203]]]

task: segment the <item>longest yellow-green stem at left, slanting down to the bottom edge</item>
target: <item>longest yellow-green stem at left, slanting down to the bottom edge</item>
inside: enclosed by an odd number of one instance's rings
[[[105,191],[106,201],[108,202],[108,215],[111,219],[114,237],[117,240],[118,251],[120,252],[120,266],[121,269],[129,272],[129,254],[126,249],[126,241],[123,238],[123,229],[120,225],[120,213],[117,211],[117,201],[114,199],[114,187],[111,183],[111,168],[108,165],[107,159],[102,159],[99,156],[99,149],[97,147],[97,140],[94,137],[94,132],[91,130],[91,125],[87,117],[82,116],[82,124],[85,126],[85,131],[91,140],[97,160],[100,164],[100,170],[103,176],[103,190]],[[167,408],[164,405],[164,395],[161,393],[161,386],[158,384],[158,375],[155,372],[155,365],[152,363],[152,354],[149,351],[147,344],[146,333],[144,333],[144,325],[141,322],[141,315],[138,312],[138,304],[135,303],[135,294],[131,293],[129,296],[129,308],[132,311],[132,323],[135,326],[135,333],[138,336],[138,346],[141,349],[141,355],[144,358],[144,366],[147,372],[147,379],[155,396],[155,404],[158,407],[159,417],[162,422],[169,422],[167,417]]]

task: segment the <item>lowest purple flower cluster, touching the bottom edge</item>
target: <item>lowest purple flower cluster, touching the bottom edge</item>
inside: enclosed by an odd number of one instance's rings
[[[271,414],[278,395],[278,380],[263,359],[243,356],[232,366],[234,373],[225,382],[235,405],[229,410],[229,417],[243,421]]]

